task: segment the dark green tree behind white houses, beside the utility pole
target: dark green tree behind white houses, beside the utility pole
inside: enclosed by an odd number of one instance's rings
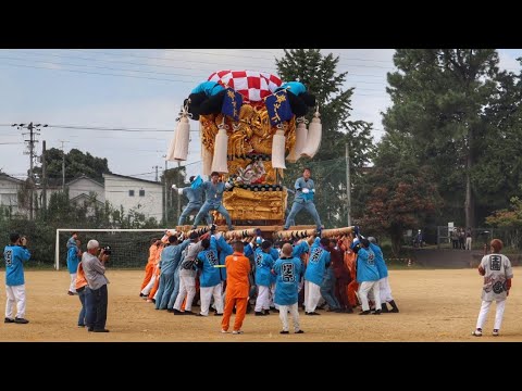
[[[51,148],[46,151],[47,175],[50,185],[62,182],[62,162],[63,152],[57,148]],[[37,181],[41,181],[41,166],[34,168]],[[109,162],[107,159],[92,156],[89,152],[82,152],[77,149],[72,149],[65,153],[65,180],[72,180],[82,175],[103,182],[103,174],[110,174]]]

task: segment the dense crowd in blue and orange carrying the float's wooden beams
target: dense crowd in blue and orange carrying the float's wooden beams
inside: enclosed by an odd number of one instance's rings
[[[183,234],[166,242],[154,238],[139,295],[176,316],[209,316],[213,311],[223,316],[223,332],[235,311],[233,333],[243,332],[245,314],[252,310],[254,316],[278,313],[282,333],[288,332],[288,313],[295,332],[303,332],[299,305],[309,316],[320,315],[318,308],[353,313],[359,305],[361,315],[399,312],[373,238],[238,239],[225,240],[215,229],[202,236],[192,231],[185,240]],[[200,311],[194,312],[198,302]]]

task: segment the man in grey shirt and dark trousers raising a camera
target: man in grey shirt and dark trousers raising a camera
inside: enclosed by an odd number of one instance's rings
[[[86,303],[88,331],[109,332],[105,329],[109,280],[105,277],[105,263],[109,261],[111,249],[105,247],[100,251],[98,240],[91,239],[87,243],[87,252],[82,256],[82,266],[90,289],[92,302]],[[87,298],[86,298],[87,299]]]

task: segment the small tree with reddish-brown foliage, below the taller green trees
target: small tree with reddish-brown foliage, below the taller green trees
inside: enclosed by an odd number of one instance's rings
[[[357,224],[364,231],[387,234],[395,255],[405,230],[425,226],[443,204],[433,171],[420,166],[411,150],[408,137],[386,135],[377,147],[375,166],[359,190],[364,206],[356,214]]]

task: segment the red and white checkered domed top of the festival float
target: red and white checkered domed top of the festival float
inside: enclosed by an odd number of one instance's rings
[[[252,102],[270,96],[283,84],[277,76],[256,71],[219,71],[210,75],[209,81],[231,87]]]

